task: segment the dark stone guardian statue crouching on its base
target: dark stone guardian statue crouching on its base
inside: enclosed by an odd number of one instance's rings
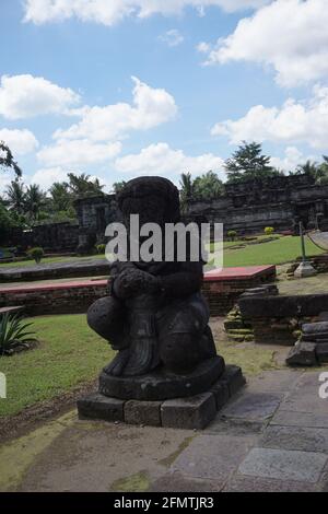
[[[118,195],[126,226],[130,214],[147,222],[180,221],[177,188],[161,177],[130,180]],[[91,328],[118,350],[103,377],[137,377],[153,372],[186,375],[218,359],[209,308],[200,293],[202,261],[116,261],[110,266],[110,295],[89,309]],[[220,358],[218,378],[224,371]]]

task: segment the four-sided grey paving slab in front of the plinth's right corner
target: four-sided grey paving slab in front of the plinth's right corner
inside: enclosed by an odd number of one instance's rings
[[[179,455],[172,470],[184,476],[226,481],[253,445],[251,436],[201,434]]]

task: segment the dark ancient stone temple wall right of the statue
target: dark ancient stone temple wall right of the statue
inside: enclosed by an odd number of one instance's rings
[[[328,227],[328,186],[315,185],[307,175],[277,176],[263,180],[226,184],[216,200],[190,199],[188,220],[216,222],[238,234],[296,231],[298,221],[306,229]]]

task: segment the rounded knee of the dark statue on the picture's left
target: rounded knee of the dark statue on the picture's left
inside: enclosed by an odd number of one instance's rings
[[[87,324],[110,343],[122,339],[124,307],[121,303],[114,296],[96,300],[87,311]]]

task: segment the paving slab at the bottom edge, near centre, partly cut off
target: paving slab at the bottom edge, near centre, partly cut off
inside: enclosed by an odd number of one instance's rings
[[[224,483],[224,480],[199,480],[168,472],[155,480],[148,492],[219,492]]]

